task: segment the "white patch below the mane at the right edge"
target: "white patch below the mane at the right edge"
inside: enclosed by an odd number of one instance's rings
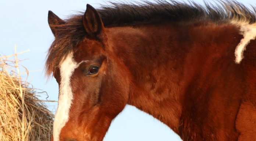
[[[256,23],[238,23],[232,22],[240,27],[240,34],[243,35],[242,40],[235,49],[235,63],[239,64],[243,59],[243,52],[246,49],[246,45],[250,43],[250,40],[254,40],[256,37]]]

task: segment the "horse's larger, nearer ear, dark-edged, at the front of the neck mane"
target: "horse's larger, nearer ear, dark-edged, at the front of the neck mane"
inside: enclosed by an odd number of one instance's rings
[[[89,36],[102,39],[104,38],[104,25],[98,12],[90,4],[86,5],[86,11],[83,15],[83,26]]]

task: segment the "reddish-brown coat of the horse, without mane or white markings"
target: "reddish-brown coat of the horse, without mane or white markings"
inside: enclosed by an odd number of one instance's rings
[[[96,25],[84,27],[92,33],[76,47],[50,49],[47,63],[54,63],[47,73],[53,71],[59,84],[54,65],[66,52],[74,52],[75,62],[89,60],[71,77],[74,99],[61,141],[102,141],[126,104],[153,115],[184,141],[256,140],[256,41],[236,64],[242,39],[237,26],[206,20],[104,27],[91,17],[95,21],[87,24]],[[95,64],[97,74],[84,73]]]

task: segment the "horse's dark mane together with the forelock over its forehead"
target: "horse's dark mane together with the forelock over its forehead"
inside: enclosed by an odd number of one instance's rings
[[[180,3],[174,0],[158,0],[155,3],[137,4],[110,3],[102,6],[99,12],[104,26],[126,26],[156,23],[161,21],[189,22],[256,22],[256,8],[245,7],[237,1],[218,0],[218,4],[199,5],[194,2]],[[77,47],[86,32],[82,21],[83,12],[56,25],[57,35],[51,45],[47,60],[46,74],[49,76],[58,67],[61,59]]]

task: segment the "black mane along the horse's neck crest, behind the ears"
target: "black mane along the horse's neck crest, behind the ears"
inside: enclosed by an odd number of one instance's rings
[[[180,3],[174,0],[159,0],[156,3],[124,4],[111,3],[102,6],[98,12],[106,27],[170,21],[213,21],[228,22],[230,20],[256,22],[255,7],[249,10],[237,1],[219,1],[218,4],[205,6],[194,2]],[[82,15],[81,15],[82,16]]]

